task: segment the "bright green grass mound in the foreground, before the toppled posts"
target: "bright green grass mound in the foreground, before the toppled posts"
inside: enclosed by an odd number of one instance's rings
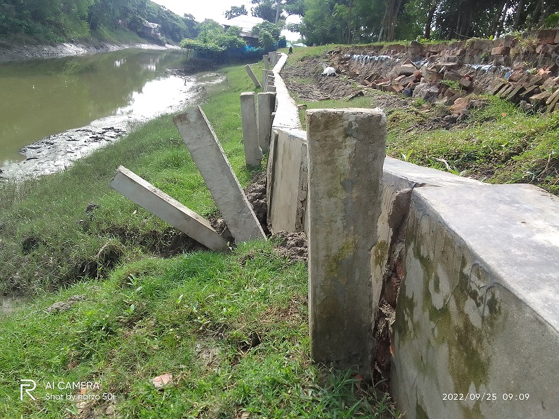
[[[73,295],[86,297],[45,311]],[[47,394],[78,392],[47,383],[90,381],[100,388],[86,394],[114,403],[79,406],[121,418],[375,417],[371,404],[393,417],[386,396],[348,371],[310,363],[306,295],[306,266],[266,242],[125,264],[3,320],[0,416],[71,417],[75,401]],[[156,390],[150,380],[165,372],[174,384]],[[36,401],[19,400],[20,379],[38,383]]]

